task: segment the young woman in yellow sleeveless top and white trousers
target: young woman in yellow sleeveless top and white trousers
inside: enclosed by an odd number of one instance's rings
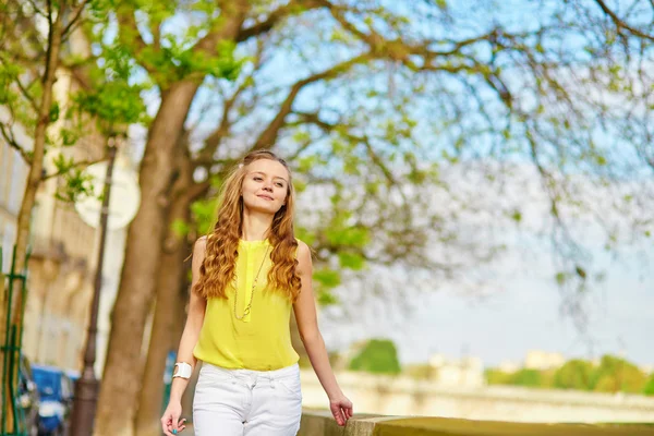
[[[316,320],[308,246],[293,234],[287,164],[270,152],[245,156],[225,182],[214,230],[193,249],[192,291],[161,427],[184,429],[181,398],[203,361],[193,401],[196,436],[290,436],[302,393],[291,346],[291,305],[313,368],[339,425],[352,416]]]

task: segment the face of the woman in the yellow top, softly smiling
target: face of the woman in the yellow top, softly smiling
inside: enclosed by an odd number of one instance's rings
[[[289,172],[277,160],[258,159],[246,168],[243,204],[251,210],[276,214],[286,204]]]

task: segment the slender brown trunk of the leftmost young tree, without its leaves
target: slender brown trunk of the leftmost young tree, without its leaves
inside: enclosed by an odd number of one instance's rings
[[[50,27],[50,32],[48,35],[48,58],[46,60],[46,71],[44,72],[43,77],[43,96],[40,100],[40,106],[38,108],[36,129],[34,132],[34,148],[32,155],[32,162],[29,165],[29,172],[27,174],[27,182],[25,183],[25,191],[23,193],[23,202],[21,203],[21,210],[19,211],[19,220],[17,220],[17,234],[15,241],[15,272],[22,274],[25,269],[25,256],[27,253],[27,241],[29,239],[31,232],[31,218],[32,218],[32,209],[34,208],[34,202],[36,198],[36,193],[41,182],[41,172],[44,168],[44,156],[45,156],[45,147],[46,147],[46,132],[48,126],[50,125],[50,108],[52,107],[52,86],[56,81],[57,69],[59,68],[59,52],[61,49],[61,33],[62,33],[62,11],[57,13],[57,17]],[[13,282],[13,295],[12,301],[9,301],[9,295],[4,293],[1,295],[2,298],[2,307],[8,307],[11,310],[9,313],[9,319],[11,319],[12,324],[16,326],[16,342],[20,341],[23,330],[23,293],[21,292],[23,282],[20,279],[14,280]],[[7,312],[4,310],[0,311],[0,341],[4,341],[5,339],[5,325],[7,325]],[[16,363],[14,365],[14,370],[17,368],[19,362],[19,351],[13,352],[13,360]],[[4,374],[4,359],[0,359],[0,374]],[[8,383],[15,382],[17,377],[17,371],[14,371],[13,374],[8,377]],[[16,383],[12,383],[13,386],[16,386]],[[12,402],[8,401],[9,397],[9,386],[5,386],[4,391],[7,396],[4,398],[0,397],[0,412],[7,413],[8,419],[8,429],[13,432],[14,423],[13,423],[13,409]],[[7,405],[7,409],[4,409]]]

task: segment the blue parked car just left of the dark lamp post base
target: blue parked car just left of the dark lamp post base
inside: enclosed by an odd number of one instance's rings
[[[70,377],[64,371],[53,366],[33,365],[32,373],[40,395],[39,434],[68,435],[73,407],[73,384]]]

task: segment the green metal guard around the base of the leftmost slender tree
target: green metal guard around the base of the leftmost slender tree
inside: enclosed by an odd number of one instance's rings
[[[0,299],[7,301],[4,338],[0,338],[0,358],[2,359],[2,408],[0,410],[0,436],[27,436],[27,422],[20,403],[19,372],[21,347],[23,342],[23,326],[12,319],[12,302],[14,292],[21,292],[21,323],[25,314],[27,296],[27,257],[23,271],[15,271],[16,250],[12,252],[11,267],[8,274],[0,270]],[[0,247],[0,266],[2,265],[2,247]],[[16,289],[17,288],[17,289]],[[11,417],[11,420],[10,420]],[[11,425],[13,422],[13,425]]]

